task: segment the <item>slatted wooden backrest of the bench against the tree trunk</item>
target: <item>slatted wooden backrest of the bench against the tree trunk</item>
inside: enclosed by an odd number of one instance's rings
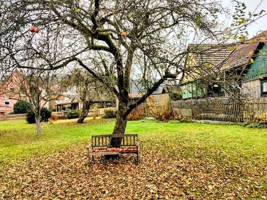
[[[111,145],[110,143],[113,143]],[[137,134],[111,134],[92,136],[92,148],[111,146],[136,146],[138,142]]]

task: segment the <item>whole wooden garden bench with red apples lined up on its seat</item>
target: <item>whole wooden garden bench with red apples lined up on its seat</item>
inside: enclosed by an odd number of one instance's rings
[[[111,142],[113,145],[111,145]],[[136,154],[138,164],[137,134],[112,134],[92,136],[91,145],[87,146],[89,165],[95,155]],[[92,158],[91,158],[92,157]]]

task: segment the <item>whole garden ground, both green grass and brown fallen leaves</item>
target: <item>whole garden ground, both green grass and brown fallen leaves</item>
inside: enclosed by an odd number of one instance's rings
[[[114,119],[0,122],[2,199],[266,199],[267,129],[238,125],[129,121],[134,156],[89,167],[91,135],[110,134]]]

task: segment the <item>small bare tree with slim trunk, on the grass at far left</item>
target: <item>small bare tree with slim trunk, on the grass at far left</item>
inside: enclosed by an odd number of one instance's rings
[[[20,70],[16,79],[12,80],[13,90],[10,97],[16,100],[27,100],[30,110],[34,113],[37,134],[42,134],[41,109],[49,101],[59,97],[62,86],[53,72],[34,69]]]

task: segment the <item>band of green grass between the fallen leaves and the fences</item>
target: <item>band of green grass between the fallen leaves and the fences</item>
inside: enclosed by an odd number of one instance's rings
[[[91,135],[110,134],[114,120],[87,119],[79,125],[75,120],[43,123],[43,135],[37,136],[34,124],[25,120],[0,122],[0,162],[46,153],[71,143],[90,142]],[[126,133],[138,133],[140,140],[177,142],[191,155],[198,149],[220,150],[233,159],[267,159],[267,129],[249,129],[238,125],[201,123],[160,123],[129,121]],[[156,142],[155,141],[155,142]]]

